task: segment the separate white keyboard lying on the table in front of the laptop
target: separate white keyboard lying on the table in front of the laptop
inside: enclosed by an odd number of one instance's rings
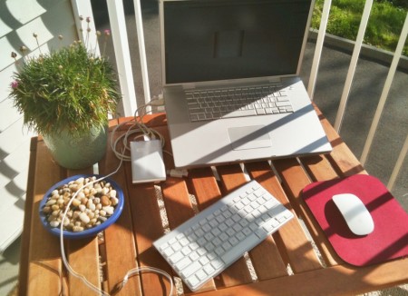
[[[153,245],[189,289],[197,291],[293,217],[259,183],[251,181]]]

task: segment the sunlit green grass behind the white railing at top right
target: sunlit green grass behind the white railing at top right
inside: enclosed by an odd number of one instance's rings
[[[326,32],[355,40],[365,0],[333,0]],[[316,0],[312,27],[318,29],[324,0]],[[399,6],[397,6],[399,5]],[[364,44],[394,52],[408,11],[408,1],[375,1],[364,35]],[[408,41],[403,54],[408,55]]]

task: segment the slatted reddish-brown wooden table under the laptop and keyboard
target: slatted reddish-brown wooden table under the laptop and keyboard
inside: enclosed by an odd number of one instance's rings
[[[332,126],[322,114],[319,116],[334,146],[332,153],[274,160],[271,162],[273,169],[267,162],[245,163],[245,167],[250,178],[257,179],[296,212],[297,217],[301,217],[320,256],[316,254],[302,222],[292,219],[248,252],[247,258],[235,262],[199,292],[205,295],[357,294],[408,282],[408,258],[364,268],[342,261],[299,197],[308,183],[365,173]],[[113,120],[111,131],[114,125],[126,120],[129,118]],[[170,151],[165,114],[147,115],[145,122],[165,136],[165,150]],[[170,155],[165,153],[164,158],[166,167],[172,168]],[[119,163],[108,145],[107,153],[99,163],[100,173],[111,173]],[[92,173],[92,168],[81,171],[61,168],[53,163],[41,138],[33,138],[20,261],[22,295],[92,294],[82,281],[64,269],[59,239],[44,230],[38,216],[39,202],[48,188],[77,173]],[[131,183],[131,165],[124,163],[119,173],[112,176],[126,197],[121,217],[103,233],[102,238],[66,242],[65,250],[73,270],[109,293],[167,295],[169,282],[155,273],[133,276],[121,291],[115,291],[115,288],[126,272],[136,266],[153,266],[174,274],[152,242],[163,235],[163,227],[175,228],[193,216],[197,209],[208,207],[248,180],[238,164],[218,166],[217,173],[219,180],[210,168],[200,168],[190,170],[187,178],[168,177],[162,183],[135,185]],[[197,201],[196,206],[191,206],[191,194]],[[168,222],[163,226],[160,212],[164,210]],[[248,261],[255,273],[248,268]],[[182,288],[185,293],[190,293],[185,286]]]

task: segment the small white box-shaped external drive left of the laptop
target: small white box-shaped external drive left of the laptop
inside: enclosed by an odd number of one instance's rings
[[[131,142],[132,183],[166,180],[160,140]]]

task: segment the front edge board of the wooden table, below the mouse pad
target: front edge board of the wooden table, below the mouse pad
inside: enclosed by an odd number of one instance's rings
[[[390,265],[393,265],[394,270],[398,270],[397,274],[389,274]],[[335,265],[195,295],[356,295],[403,284],[408,281],[407,270],[408,257],[365,267]],[[350,277],[360,281],[350,281]],[[331,284],[327,285],[327,282]]]

